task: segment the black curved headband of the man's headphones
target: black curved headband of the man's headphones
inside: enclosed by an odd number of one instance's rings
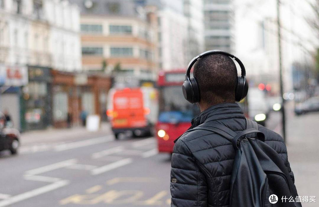
[[[225,51],[221,51],[221,50],[209,50],[209,51],[206,51],[204,53],[201,53],[199,55],[197,55],[195,58],[193,58],[193,60],[191,60],[188,64],[188,67],[187,67],[187,71],[186,71],[186,74],[185,74],[185,80],[187,80],[190,76],[190,70],[192,69],[193,65],[198,61],[200,60],[202,57],[204,56],[207,56],[207,55],[210,55],[210,54],[224,54],[224,55],[227,55],[228,57],[231,57],[231,58],[234,58],[236,62],[238,62],[240,68],[241,68],[241,76],[243,77],[246,77],[246,69],[245,69],[245,66],[244,64],[242,64],[242,62],[233,54],[230,54],[230,53],[227,53]]]

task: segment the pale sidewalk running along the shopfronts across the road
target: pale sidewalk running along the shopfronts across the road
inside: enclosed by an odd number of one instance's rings
[[[41,142],[64,142],[68,140],[76,140],[77,138],[93,138],[111,134],[111,128],[108,122],[104,122],[97,132],[88,132],[85,127],[75,126],[72,128],[49,128],[45,130],[35,130],[21,133],[21,144],[27,145],[31,143]]]

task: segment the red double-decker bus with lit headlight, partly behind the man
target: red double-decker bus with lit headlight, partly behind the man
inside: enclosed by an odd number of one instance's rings
[[[191,119],[200,112],[196,104],[184,99],[184,80],[185,70],[159,72],[159,115],[155,127],[159,152],[173,153],[174,140],[190,127]]]

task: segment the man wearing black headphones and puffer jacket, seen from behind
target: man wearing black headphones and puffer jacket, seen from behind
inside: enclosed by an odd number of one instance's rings
[[[241,76],[238,76],[236,65],[231,57],[235,58],[226,52],[207,51],[194,58],[189,64],[188,74],[192,64],[195,63],[193,77],[187,75],[183,84],[183,94],[189,102],[197,104],[201,113],[192,119],[189,130],[174,141],[171,160],[171,206],[257,206],[230,202],[234,194],[242,196],[241,199],[244,203],[254,202],[255,199],[255,194],[252,195],[253,192],[245,194],[244,192],[231,191],[231,189],[238,187],[231,186],[231,182],[241,181],[241,177],[235,181],[231,179],[238,170],[233,169],[233,166],[238,164],[234,161],[235,156],[237,156],[235,153],[240,152],[234,146],[239,145],[243,138],[239,137],[241,139],[238,139],[234,144],[230,141],[231,138],[226,138],[227,134],[222,136],[220,135],[222,132],[211,132],[206,130],[207,127],[205,130],[200,127],[195,128],[198,125],[216,125],[224,129],[229,128],[237,134],[248,127],[248,124],[246,124],[248,120],[246,120],[239,105],[235,103],[235,101],[240,101],[247,95],[246,72],[243,65],[239,64],[242,73]],[[237,58],[235,60],[238,61]],[[263,144],[276,153],[279,162],[284,164],[285,169],[283,170],[287,172],[286,176],[291,180],[291,183],[294,183],[294,175],[288,162],[287,149],[283,138],[262,125],[258,125],[258,130],[260,131],[260,133],[257,133],[258,139],[261,134],[264,135]],[[248,138],[245,139],[248,140]],[[241,157],[241,159],[243,158]],[[248,163],[247,166],[248,168],[251,167],[251,163]],[[256,180],[246,177],[250,175],[249,173],[252,176],[258,172],[252,170],[247,173],[248,175],[243,174],[242,183],[239,187],[249,188],[249,184],[257,184]],[[260,175],[263,175],[262,173]],[[294,184],[292,185],[294,187]],[[258,193],[259,191],[257,191]],[[268,202],[268,197],[266,199]],[[273,200],[273,198],[271,199]],[[271,203],[268,204],[270,205],[265,206],[272,206]]]

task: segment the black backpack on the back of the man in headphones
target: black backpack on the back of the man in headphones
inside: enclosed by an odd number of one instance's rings
[[[297,190],[283,160],[264,143],[265,136],[258,131],[256,122],[246,119],[246,130],[239,133],[210,122],[187,132],[197,129],[217,133],[234,145],[230,207],[301,207],[301,203],[296,202]]]

